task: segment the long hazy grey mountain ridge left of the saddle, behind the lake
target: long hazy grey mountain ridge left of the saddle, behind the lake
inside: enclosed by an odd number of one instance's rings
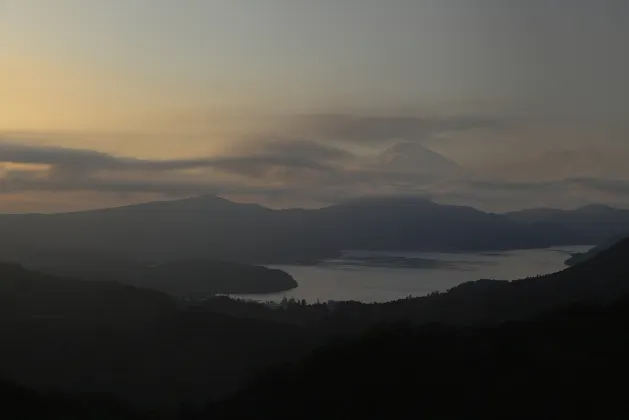
[[[311,262],[338,255],[304,236],[303,211],[273,211],[203,196],[62,213],[0,216],[0,258],[32,247],[88,250],[140,262]]]

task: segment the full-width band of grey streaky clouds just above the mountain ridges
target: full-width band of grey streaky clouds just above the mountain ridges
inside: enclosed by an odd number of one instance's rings
[[[0,194],[113,194],[125,200],[220,194],[272,206],[412,194],[490,210],[629,205],[622,153],[576,144],[549,146],[548,152],[518,149],[532,142],[513,143],[509,151],[505,145],[518,130],[498,118],[317,115],[238,138],[222,153],[182,159],[139,159],[5,136]],[[465,158],[474,154],[479,133],[486,158],[469,164]],[[508,159],[498,154],[503,146]],[[455,161],[447,151],[456,148],[466,152],[455,153]]]

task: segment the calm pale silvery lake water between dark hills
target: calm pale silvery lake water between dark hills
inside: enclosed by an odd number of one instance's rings
[[[279,301],[284,297],[383,302],[445,291],[470,280],[515,280],[563,270],[571,253],[588,246],[492,253],[346,252],[316,266],[274,266],[290,273],[296,289],[238,297]]]

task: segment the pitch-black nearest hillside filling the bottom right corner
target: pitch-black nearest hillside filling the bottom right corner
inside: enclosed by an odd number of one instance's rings
[[[383,327],[190,418],[622,419],[627,325],[623,300],[492,328]]]

